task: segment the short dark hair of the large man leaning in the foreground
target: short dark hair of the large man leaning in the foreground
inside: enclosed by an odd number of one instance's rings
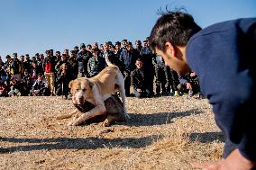
[[[149,38],[152,49],[165,51],[166,42],[173,46],[185,46],[190,37],[201,30],[193,16],[188,13],[167,11],[160,15]]]

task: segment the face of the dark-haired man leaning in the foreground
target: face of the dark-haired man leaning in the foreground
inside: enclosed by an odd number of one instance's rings
[[[163,52],[160,49],[156,49],[156,53],[164,59],[167,66],[171,67],[179,75],[184,75],[189,71],[190,68],[188,67],[187,62],[182,58],[174,56],[172,50],[169,49]]]

